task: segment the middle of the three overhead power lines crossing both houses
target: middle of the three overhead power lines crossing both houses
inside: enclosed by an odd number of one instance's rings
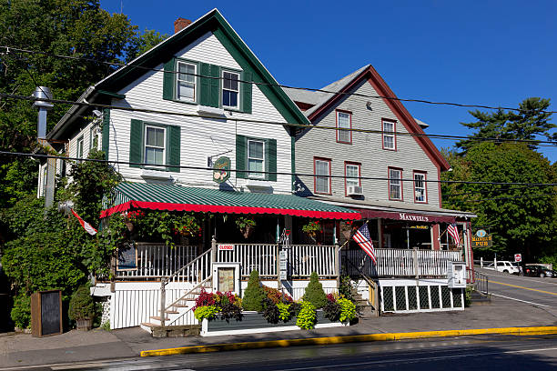
[[[199,114],[187,114],[184,112],[176,112],[176,111],[163,111],[151,108],[137,108],[137,107],[124,107],[124,106],[117,106],[117,105],[101,105],[96,103],[87,103],[87,102],[76,102],[76,101],[69,101],[65,99],[46,99],[46,98],[36,98],[35,96],[27,96],[27,95],[13,95],[13,94],[6,94],[0,93],[0,97],[8,98],[8,99],[20,99],[20,100],[27,100],[27,101],[42,101],[42,102],[50,102],[50,103],[59,103],[65,105],[82,105],[82,106],[89,106],[89,107],[96,107],[96,108],[108,108],[108,109],[115,109],[121,111],[128,111],[128,112],[141,112],[141,113],[148,113],[148,114],[160,114],[160,115],[177,115],[177,116],[184,116],[184,117],[198,117],[198,118],[208,118],[212,120],[223,120],[223,121],[238,121],[238,122],[247,122],[252,124],[266,124],[266,125],[286,125],[292,127],[300,127],[300,128],[318,128],[318,129],[326,129],[326,130],[340,130],[340,131],[350,131],[350,132],[357,132],[357,133],[370,133],[370,134],[388,134],[388,135],[400,135],[400,136],[426,136],[426,137],[433,137],[438,139],[449,139],[449,140],[473,140],[473,141],[480,141],[480,142],[510,142],[510,143],[530,143],[534,145],[540,146],[553,146],[557,145],[556,142],[552,141],[542,141],[542,140],[535,140],[535,139],[503,139],[503,138],[481,138],[481,137],[470,137],[464,135],[441,135],[441,134],[420,134],[420,133],[405,133],[405,132],[391,132],[391,131],[384,131],[384,130],[373,130],[373,129],[358,129],[358,128],[339,128],[336,126],[327,126],[327,125],[312,125],[312,124],[294,124],[294,123],[287,123],[287,122],[279,122],[279,121],[268,121],[268,120],[257,120],[257,119],[249,119],[249,118],[241,118],[235,116],[215,116],[215,115],[199,115]]]

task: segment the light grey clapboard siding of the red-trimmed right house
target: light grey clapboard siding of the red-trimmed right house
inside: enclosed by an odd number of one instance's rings
[[[369,82],[363,81],[353,90],[362,95],[379,95]],[[370,102],[370,108],[368,108]],[[390,107],[380,99],[349,95],[338,106],[321,116],[317,125],[336,126],[336,109],[352,113],[352,128],[381,130],[381,119],[395,120],[396,131],[408,133]],[[331,174],[344,175],[344,162],[361,163],[361,176],[387,178],[388,167],[402,168],[403,179],[413,179],[414,171],[427,173],[428,180],[438,179],[438,169],[430,157],[412,136],[397,135],[396,151],[382,149],[382,135],[376,133],[352,132],[352,144],[337,143],[334,130],[314,128],[301,135],[296,142],[296,172],[313,174],[314,156],[330,158]],[[309,191],[313,193],[312,176],[300,177]],[[389,200],[387,180],[361,180],[366,201]],[[332,179],[332,196],[345,197],[343,178]],[[392,201],[392,206],[414,205],[412,182],[403,182],[404,202]],[[427,183],[428,204],[439,206],[439,187],[436,183]]]

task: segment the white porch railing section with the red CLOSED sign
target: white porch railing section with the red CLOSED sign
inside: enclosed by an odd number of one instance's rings
[[[278,245],[234,244],[233,250],[218,251],[217,261],[240,263],[240,276],[249,276],[253,270],[259,276],[277,276],[278,255]]]

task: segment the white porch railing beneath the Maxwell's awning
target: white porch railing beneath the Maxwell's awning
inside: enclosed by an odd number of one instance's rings
[[[348,250],[342,254],[348,260],[349,275],[365,273],[372,277],[447,276],[447,262],[461,260],[459,251],[376,248],[377,265],[373,265],[363,250]]]

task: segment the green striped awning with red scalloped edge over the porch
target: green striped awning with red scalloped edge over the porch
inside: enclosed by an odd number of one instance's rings
[[[357,220],[360,213],[293,195],[273,195],[188,186],[121,183],[101,217],[133,208],[223,214],[275,214],[319,219]]]

